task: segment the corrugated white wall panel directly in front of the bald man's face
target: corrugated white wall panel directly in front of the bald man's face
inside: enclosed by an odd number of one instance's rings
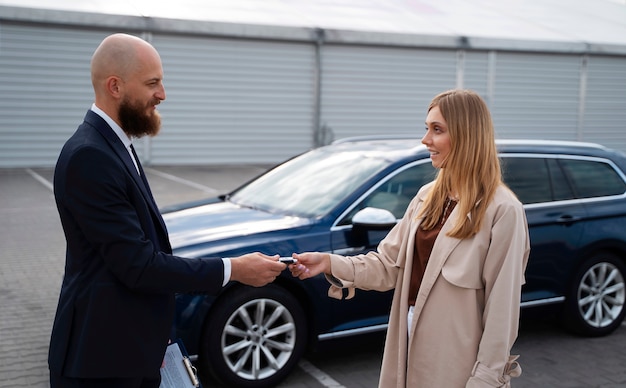
[[[155,35],[167,99],[153,164],[275,163],[311,146],[314,46]]]

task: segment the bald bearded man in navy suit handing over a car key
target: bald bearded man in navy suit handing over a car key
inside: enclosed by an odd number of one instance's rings
[[[51,388],[157,388],[176,292],[217,293],[228,281],[263,286],[285,269],[278,256],[172,255],[167,230],[134,156],[155,136],[165,100],[157,51],[126,34],[93,54],[95,102],[65,143],[54,195],[67,240],[52,328]]]

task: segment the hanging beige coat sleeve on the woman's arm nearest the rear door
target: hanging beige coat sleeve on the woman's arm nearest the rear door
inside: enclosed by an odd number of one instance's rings
[[[485,307],[483,334],[468,388],[508,387],[521,373],[510,350],[517,338],[521,287],[530,252],[522,205],[508,201],[497,207],[491,242],[483,267]]]

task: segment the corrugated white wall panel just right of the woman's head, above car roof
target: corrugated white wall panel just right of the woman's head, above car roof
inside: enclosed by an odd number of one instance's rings
[[[580,55],[498,52],[491,112],[496,136],[577,140]]]

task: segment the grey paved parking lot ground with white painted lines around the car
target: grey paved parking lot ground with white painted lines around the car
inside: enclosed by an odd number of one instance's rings
[[[165,207],[227,192],[267,167],[158,166],[146,173]],[[0,388],[49,388],[48,342],[65,253],[52,174],[0,169]],[[280,387],[376,387],[382,342],[327,345],[308,354]],[[523,320],[513,351],[523,368],[513,387],[626,387],[625,325],[607,337],[581,338],[550,320]]]

